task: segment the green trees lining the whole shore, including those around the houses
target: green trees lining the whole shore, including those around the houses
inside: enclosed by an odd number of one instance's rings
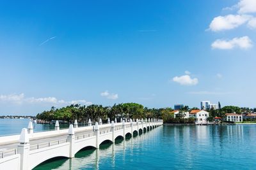
[[[180,110],[180,113],[198,110],[198,108],[189,108],[184,106]],[[107,122],[108,118],[110,120],[115,120],[117,118],[118,122],[121,118],[161,118],[164,123],[170,124],[193,124],[195,120],[193,118],[183,118],[182,114],[179,114],[174,118],[172,108],[147,108],[138,103],[121,103],[114,104],[113,106],[102,106],[98,104],[92,104],[90,106],[81,106],[79,104],[72,104],[63,108],[52,107],[49,111],[43,111],[38,113],[36,118],[39,120],[44,120],[46,122],[51,122],[52,120],[63,120],[65,122],[78,122],[87,123],[89,118],[93,123],[102,119],[102,122]],[[225,113],[250,113],[256,111],[256,108],[239,108],[237,106],[225,106],[218,110],[207,110],[209,112],[209,122],[214,121],[214,117],[225,118]]]

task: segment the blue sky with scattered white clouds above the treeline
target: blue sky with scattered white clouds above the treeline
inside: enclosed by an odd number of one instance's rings
[[[254,0],[1,1],[0,114],[256,107]]]

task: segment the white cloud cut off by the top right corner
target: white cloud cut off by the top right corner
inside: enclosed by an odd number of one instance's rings
[[[256,13],[255,0],[241,0],[236,6],[239,8],[238,13]]]

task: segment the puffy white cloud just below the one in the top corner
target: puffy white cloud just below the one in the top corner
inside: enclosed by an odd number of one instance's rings
[[[234,29],[248,22],[250,18],[252,18],[250,15],[226,15],[215,17],[212,20],[209,29],[215,32]]]

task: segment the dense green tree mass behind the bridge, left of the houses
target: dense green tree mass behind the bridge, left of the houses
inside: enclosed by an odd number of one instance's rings
[[[87,107],[79,104],[72,104],[60,109],[52,107],[49,111],[38,113],[36,118],[48,122],[51,122],[52,120],[74,122],[75,119],[77,119],[78,122],[87,122],[90,118],[94,123],[99,121],[99,118],[102,118],[103,122],[106,122],[108,118],[111,120],[117,118],[118,121],[120,118],[162,118],[162,115],[166,115],[170,110],[172,109],[144,108],[144,106],[138,103],[114,104],[114,106],[107,107],[97,104],[92,104]]]

